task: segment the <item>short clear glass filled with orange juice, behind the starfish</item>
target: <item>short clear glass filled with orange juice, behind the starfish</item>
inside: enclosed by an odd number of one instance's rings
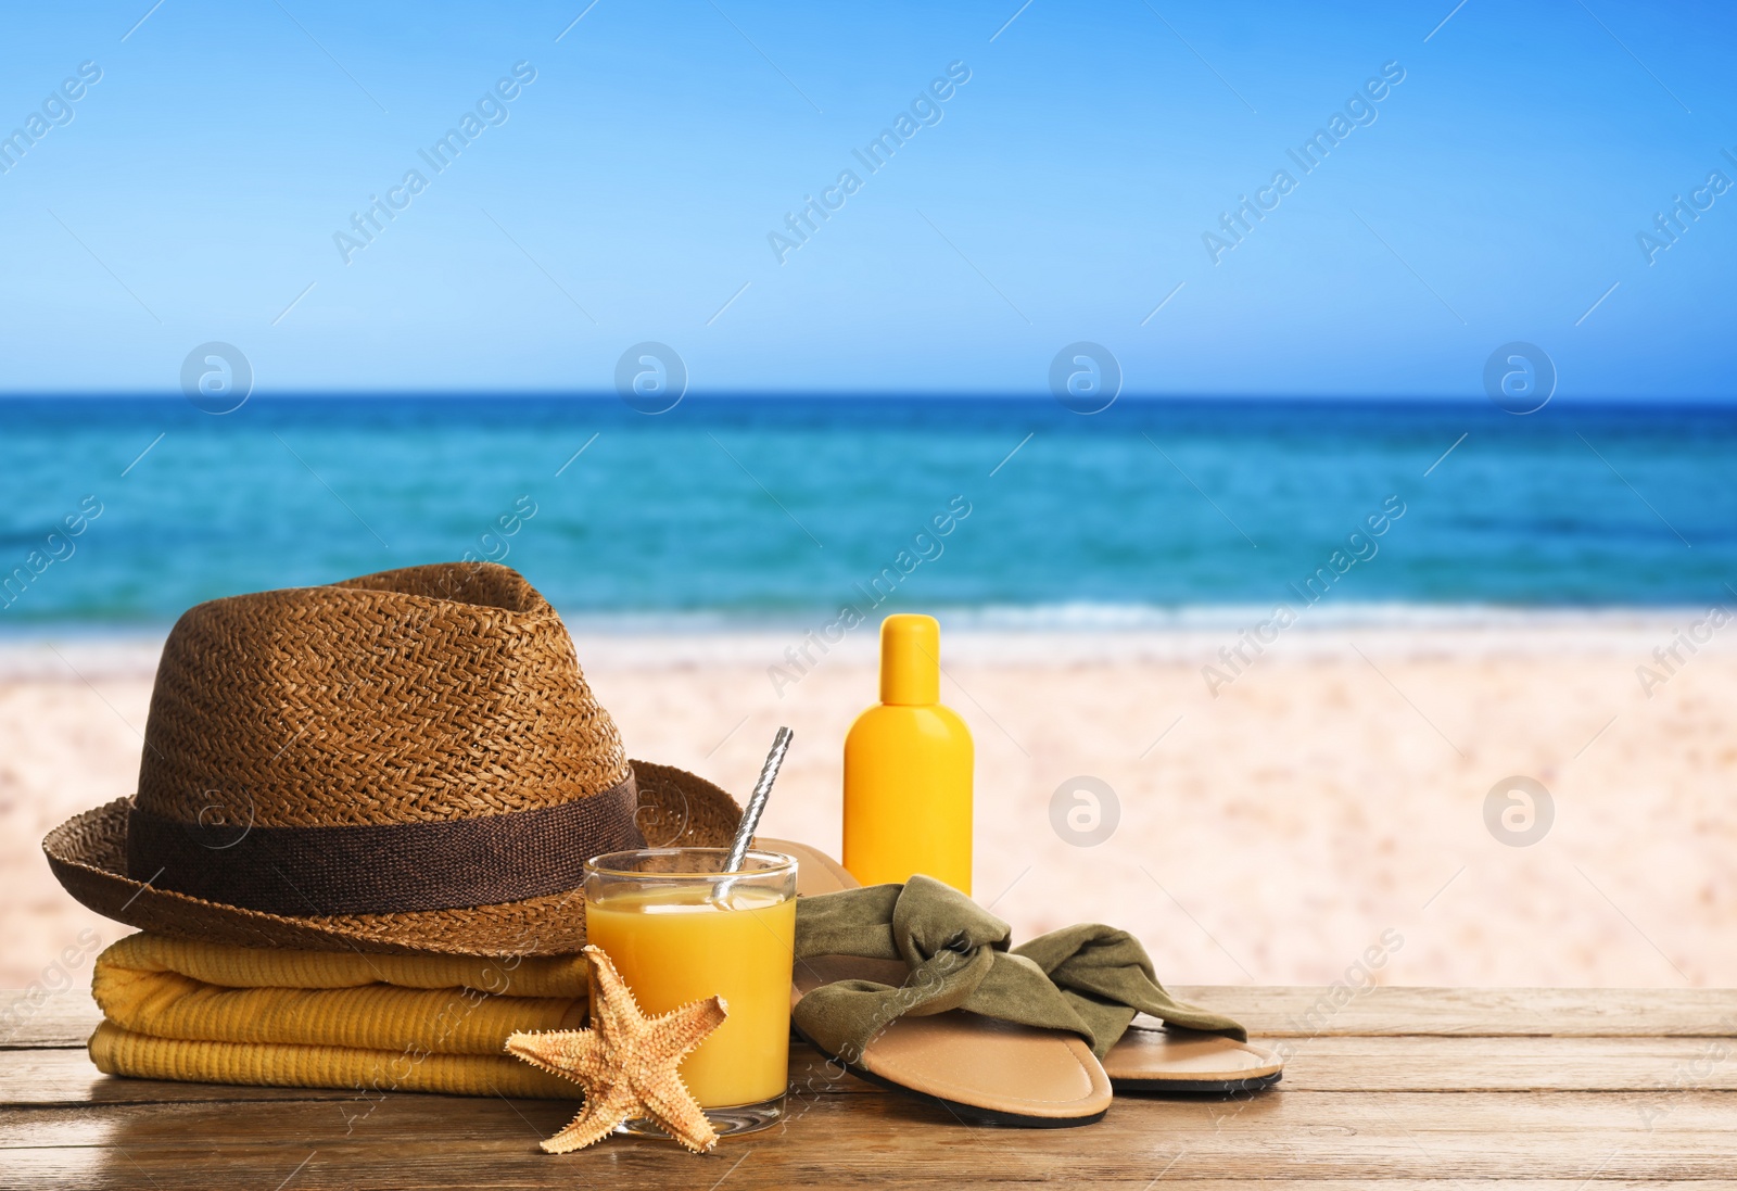
[[[679,1068],[721,1135],[783,1116],[796,946],[796,859],[750,851],[726,872],[728,854],[644,847],[585,863],[587,941],[610,957],[643,1012],[724,1000],[730,1016]],[[664,1135],[648,1120],[617,1132]]]

